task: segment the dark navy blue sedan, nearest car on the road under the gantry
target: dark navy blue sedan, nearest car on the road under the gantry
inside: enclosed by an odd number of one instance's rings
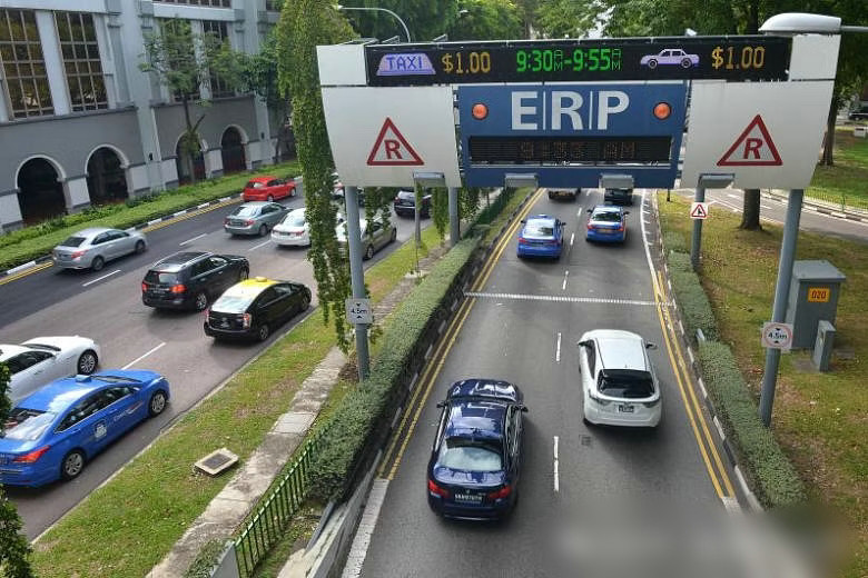
[[[522,458],[519,388],[494,379],[450,387],[428,460],[428,506],[447,518],[504,518],[517,499]]]

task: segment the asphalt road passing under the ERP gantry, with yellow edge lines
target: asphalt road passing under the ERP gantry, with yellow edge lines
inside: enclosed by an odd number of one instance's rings
[[[591,245],[584,241],[583,209],[599,202],[599,191],[582,192],[575,203],[544,196],[535,202],[531,215],[568,222],[559,261],[517,259],[516,235],[511,236],[433,379],[405,450],[398,461],[386,456],[377,481],[379,488],[387,485],[385,499],[362,576],[714,575],[712,560],[688,556],[683,548],[701,534],[699,528],[723,521],[724,501],[733,506],[743,498],[730,486],[721,500],[714,481],[723,486],[723,478],[734,478],[726,458],[726,474],[711,474],[707,466],[714,451],[722,456],[720,447],[698,441],[703,427],[693,421],[697,406],[688,409],[690,395],[677,380],[664,345],[640,226],[643,216],[651,218],[648,209],[639,201],[631,208],[624,246]],[[663,418],[655,430],[582,421],[575,342],[596,328],[628,329],[658,343],[651,358]],[[521,500],[503,524],[444,521],[426,502],[426,465],[440,412],[435,403],[451,382],[470,377],[517,383],[530,409]],[[699,413],[710,422],[703,410]],[[639,545],[649,556],[630,556]],[[691,564],[700,564],[702,574],[689,569]]]

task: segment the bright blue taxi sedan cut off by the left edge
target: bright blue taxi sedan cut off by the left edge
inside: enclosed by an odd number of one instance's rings
[[[154,371],[111,369],[57,379],[18,402],[0,438],[0,484],[71,480],[140,421],[166,409],[169,383]]]

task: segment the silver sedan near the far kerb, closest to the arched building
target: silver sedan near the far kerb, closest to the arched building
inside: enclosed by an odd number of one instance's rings
[[[129,253],[140,253],[148,248],[148,240],[139,231],[121,231],[106,227],[91,227],[69,237],[55,247],[51,259],[66,269],[93,269],[99,271],[110,260]]]

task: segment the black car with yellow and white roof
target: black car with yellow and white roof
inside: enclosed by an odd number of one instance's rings
[[[205,316],[205,335],[265,341],[272,331],[310,307],[310,289],[264,277],[228,288]]]

